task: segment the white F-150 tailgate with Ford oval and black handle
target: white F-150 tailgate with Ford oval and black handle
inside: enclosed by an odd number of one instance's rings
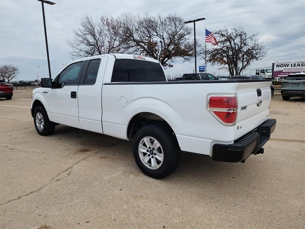
[[[271,102],[270,85],[270,81],[239,83],[237,87],[237,138],[267,120]]]

